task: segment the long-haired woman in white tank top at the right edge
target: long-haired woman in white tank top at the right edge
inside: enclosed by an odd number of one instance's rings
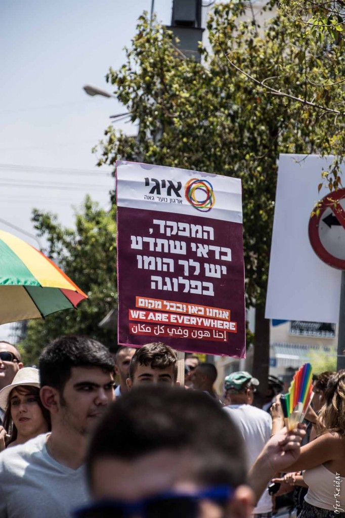
[[[298,518],[345,518],[345,370],[329,378],[318,417],[318,437],[301,448],[289,471],[308,485]],[[276,479],[279,481],[280,479]]]

